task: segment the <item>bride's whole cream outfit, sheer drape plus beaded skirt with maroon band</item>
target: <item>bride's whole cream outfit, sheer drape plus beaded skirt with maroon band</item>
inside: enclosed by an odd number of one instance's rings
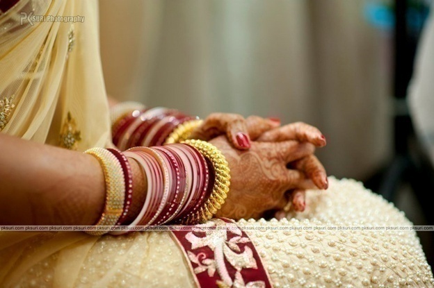
[[[85,21],[21,23],[32,11]],[[109,145],[97,2],[21,0],[0,15],[0,34],[2,132],[79,151]],[[273,287],[433,287],[414,231],[362,229],[411,223],[360,183],[330,178],[328,191],[307,192],[307,207],[280,221],[214,219],[204,226],[232,228],[198,226],[184,235],[189,251],[170,232],[1,232],[1,287],[195,287],[199,276],[270,287],[246,273],[262,264]],[[325,225],[360,229],[313,230]]]

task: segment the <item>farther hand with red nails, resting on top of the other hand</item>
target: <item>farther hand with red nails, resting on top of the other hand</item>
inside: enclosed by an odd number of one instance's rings
[[[258,116],[243,116],[230,113],[213,113],[204,119],[201,126],[191,134],[191,139],[209,141],[219,135],[226,135],[232,145],[239,150],[250,148],[251,141],[278,142],[297,140],[310,142],[315,146],[325,146],[325,137],[313,126],[297,122],[280,127],[276,119]]]

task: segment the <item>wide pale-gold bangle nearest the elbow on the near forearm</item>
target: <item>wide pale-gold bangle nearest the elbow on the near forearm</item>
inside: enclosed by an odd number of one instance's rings
[[[106,201],[104,212],[95,226],[115,226],[124,209],[125,180],[119,160],[110,151],[103,148],[92,148],[84,153],[97,158],[104,172],[106,181]],[[109,230],[86,231],[90,235],[103,235]]]

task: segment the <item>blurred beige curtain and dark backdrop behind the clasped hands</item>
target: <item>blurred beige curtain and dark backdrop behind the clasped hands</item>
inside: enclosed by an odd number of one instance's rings
[[[415,224],[434,225],[432,162],[405,101],[430,6],[104,0],[106,87],[122,101],[200,117],[236,112],[317,126],[328,140],[318,153],[330,175],[362,180]],[[419,233],[431,265],[433,236]]]

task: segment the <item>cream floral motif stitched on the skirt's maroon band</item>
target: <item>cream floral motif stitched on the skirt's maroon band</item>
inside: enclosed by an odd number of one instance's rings
[[[216,226],[215,229],[211,229],[213,226]],[[236,237],[227,240],[228,231],[234,233]],[[193,232],[205,232],[206,236],[198,237]],[[257,262],[253,257],[252,249],[248,246],[245,246],[243,253],[240,253],[241,249],[238,244],[248,243],[250,239],[242,237],[241,229],[235,223],[225,223],[225,221],[215,219],[195,226],[193,232],[188,232],[186,235],[186,239],[191,243],[192,250],[208,246],[214,252],[214,259],[210,259],[203,253],[195,255],[195,253],[187,251],[190,261],[198,264],[194,269],[194,273],[198,274],[207,271],[209,277],[212,277],[217,271],[221,278],[221,281],[217,281],[217,285],[222,288],[266,286],[264,281],[253,281],[246,284],[241,276],[241,270],[245,268],[257,269]],[[225,259],[236,269],[234,279],[229,275]]]

